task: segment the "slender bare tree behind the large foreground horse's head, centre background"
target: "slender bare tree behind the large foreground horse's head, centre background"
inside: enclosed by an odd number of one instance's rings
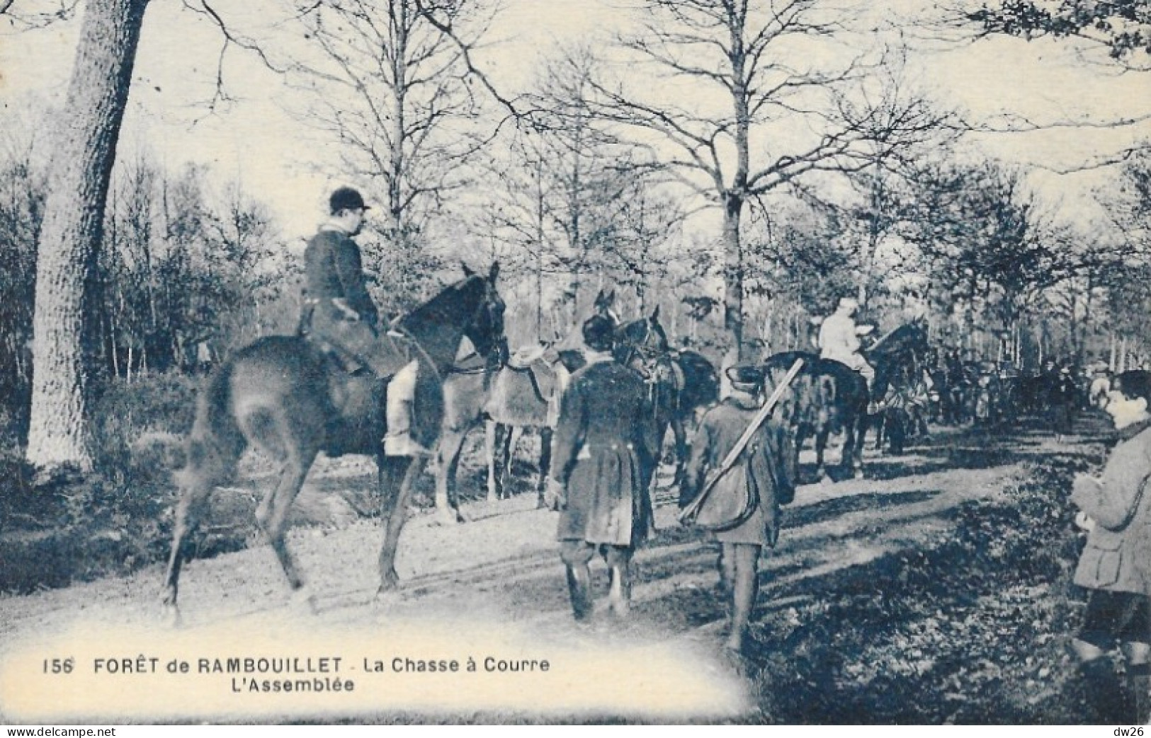
[[[599,61],[586,46],[562,49],[546,62],[525,95],[529,123],[490,166],[500,186],[491,191],[495,207],[486,221],[532,262],[538,329],[548,308],[562,306],[564,323],[582,315],[589,276],[634,282],[624,252],[637,244],[634,210],[650,205],[645,198],[651,167],[640,147],[596,116],[597,72]],[[554,328],[566,332],[571,325]]]

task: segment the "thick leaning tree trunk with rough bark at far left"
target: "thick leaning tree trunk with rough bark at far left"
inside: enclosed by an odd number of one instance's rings
[[[96,264],[147,0],[89,0],[58,118],[36,271],[28,460],[90,469],[83,352],[85,283]]]

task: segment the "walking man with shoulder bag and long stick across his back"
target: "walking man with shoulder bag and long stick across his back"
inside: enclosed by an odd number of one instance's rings
[[[708,471],[718,469],[735,441],[752,423],[762,400],[764,374],[753,364],[727,369],[731,395],[708,410],[692,440],[692,458],[687,463],[686,489],[680,507],[686,507],[703,490]],[[725,646],[744,649],[748,622],[759,593],[759,564],[763,547],[775,548],[779,538],[779,500],[791,500],[795,493],[795,453],[778,408],[760,425],[731,469],[711,490],[712,495],[738,498],[748,492],[759,503],[742,523],[715,533],[721,544],[719,584],[731,597],[731,633]]]

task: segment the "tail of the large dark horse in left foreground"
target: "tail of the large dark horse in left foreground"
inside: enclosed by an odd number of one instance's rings
[[[211,487],[227,481],[244,451],[244,435],[231,409],[231,375],[235,363],[216,368],[200,390],[196,420],[186,441],[186,461],[176,472],[181,489]]]

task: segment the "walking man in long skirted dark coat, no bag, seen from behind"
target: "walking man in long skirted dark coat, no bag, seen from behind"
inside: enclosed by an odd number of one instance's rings
[[[626,615],[630,564],[653,529],[648,482],[658,458],[655,414],[643,379],[611,355],[615,325],[584,323],[587,366],[559,405],[547,501],[559,515],[559,553],[576,620],[592,614],[588,563],[599,552],[611,572],[611,609]]]

